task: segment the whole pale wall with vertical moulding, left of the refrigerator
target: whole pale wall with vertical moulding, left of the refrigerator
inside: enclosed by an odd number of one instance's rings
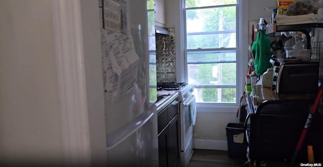
[[[0,4],[0,166],[104,166],[98,2]]]

